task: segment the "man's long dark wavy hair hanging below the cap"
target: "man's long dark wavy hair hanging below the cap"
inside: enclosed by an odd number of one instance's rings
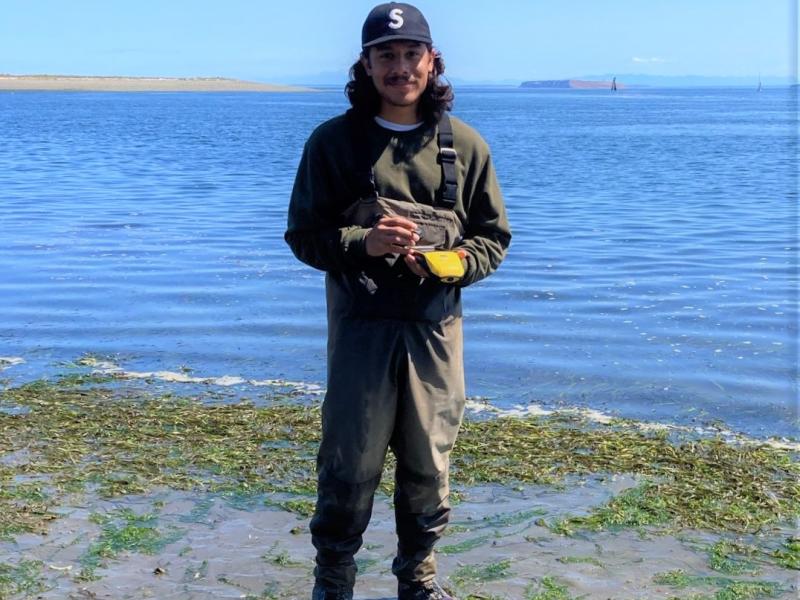
[[[428,51],[433,52],[433,73],[428,78],[428,86],[422,92],[419,103],[419,112],[425,121],[436,122],[444,111],[453,108],[453,87],[444,75],[444,59],[442,53],[428,46]],[[367,75],[367,70],[361,62],[367,58],[362,53],[358,60],[350,67],[350,81],[344,87],[344,95],[350,100],[353,110],[362,115],[372,117],[377,115],[381,108],[381,97],[372,77]]]

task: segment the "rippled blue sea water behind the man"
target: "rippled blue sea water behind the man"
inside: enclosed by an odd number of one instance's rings
[[[283,242],[303,94],[0,93],[0,357],[324,385]],[[792,436],[796,90],[457,90],[514,230],[465,291],[468,393]]]

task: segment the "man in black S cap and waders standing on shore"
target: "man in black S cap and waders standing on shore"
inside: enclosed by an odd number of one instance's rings
[[[313,600],[353,597],[388,448],[399,600],[451,598],[433,546],[465,402],[460,293],[498,267],[511,233],[486,143],[446,114],[443,72],[419,10],[375,7],[346,87],[353,108],[312,133],[292,191],[286,241],[326,271],[328,305]],[[463,276],[434,276],[431,247],[457,252]]]

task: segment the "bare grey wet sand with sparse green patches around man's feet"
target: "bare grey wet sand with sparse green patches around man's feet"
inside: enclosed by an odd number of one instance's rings
[[[719,579],[721,574],[709,568],[707,549],[720,536],[709,532],[664,535],[628,529],[567,537],[545,526],[567,514],[584,514],[633,485],[632,477],[609,477],[575,480],[562,489],[485,486],[465,490],[466,499],[454,508],[451,529],[439,544],[440,579],[462,600],[536,598],[545,582],[567,594],[548,596],[554,598],[685,597],[687,590],[658,584],[654,576],[681,569],[692,576]],[[0,556],[44,563],[50,589],[36,598],[309,596],[313,548],[308,519],[263,501],[242,503],[235,498],[163,490],[114,501],[89,499],[64,510],[68,514],[47,536],[22,535],[15,544],[0,544]],[[120,510],[157,515],[154,527],[162,533],[174,532],[177,539],[155,554],[122,552],[102,561],[95,574],[98,580],[76,581],[101,530],[90,515]],[[357,555],[357,599],[395,598],[394,545],[390,502],[380,498]],[[757,577],[729,579],[771,582],[782,590],[771,597],[796,597],[796,572],[774,565],[759,565]],[[716,586],[689,591],[713,593],[719,588],[718,581]]]

